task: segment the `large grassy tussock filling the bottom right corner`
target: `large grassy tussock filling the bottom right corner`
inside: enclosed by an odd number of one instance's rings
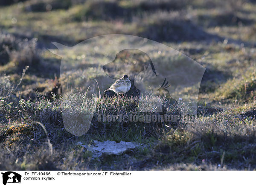
[[[172,130],[161,137],[151,160],[163,165],[217,164],[220,169],[251,167],[255,164],[255,123],[242,123],[233,114],[218,113],[214,119],[198,120]]]

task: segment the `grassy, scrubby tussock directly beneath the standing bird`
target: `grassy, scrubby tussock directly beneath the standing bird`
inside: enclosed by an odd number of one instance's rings
[[[98,98],[94,95],[87,97],[86,94],[81,93],[67,94],[61,98],[64,125],[72,134],[81,136],[88,131],[88,134],[95,135],[100,141],[107,139],[140,141],[150,136],[158,136],[163,129],[168,130],[167,125],[180,124],[181,117],[177,122],[151,121],[152,114],[180,116],[181,110],[178,105],[173,105],[168,100],[157,96],[145,96],[141,100],[120,98],[118,101],[116,97]],[[158,102],[163,113],[156,111],[157,108],[152,104],[153,102]],[[108,118],[105,118],[106,116]],[[131,116],[144,119],[150,116],[150,120],[145,122],[138,119],[134,122],[131,121]]]

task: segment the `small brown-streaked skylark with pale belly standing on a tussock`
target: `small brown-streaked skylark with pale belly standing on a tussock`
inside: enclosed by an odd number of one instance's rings
[[[122,78],[117,79],[110,88],[108,88],[107,90],[105,90],[104,92],[108,91],[108,90],[112,90],[115,93],[117,93],[118,99],[119,99],[119,94],[124,94],[126,92],[128,92],[128,90],[130,90],[131,88],[131,81],[128,78],[127,75],[122,76]],[[122,95],[123,96],[123,95]]]

